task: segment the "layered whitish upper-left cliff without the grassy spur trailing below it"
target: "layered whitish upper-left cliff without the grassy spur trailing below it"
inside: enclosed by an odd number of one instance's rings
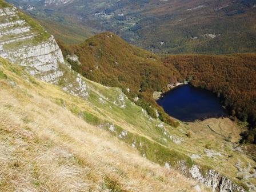
[[[0,9],[0,17],[0,57],[24,66],[42,81],[57,82],[63,75],[59,63],[64,63],[64,59],[53,36],[35,41],[40,34],[19,18],[15,7]]]

